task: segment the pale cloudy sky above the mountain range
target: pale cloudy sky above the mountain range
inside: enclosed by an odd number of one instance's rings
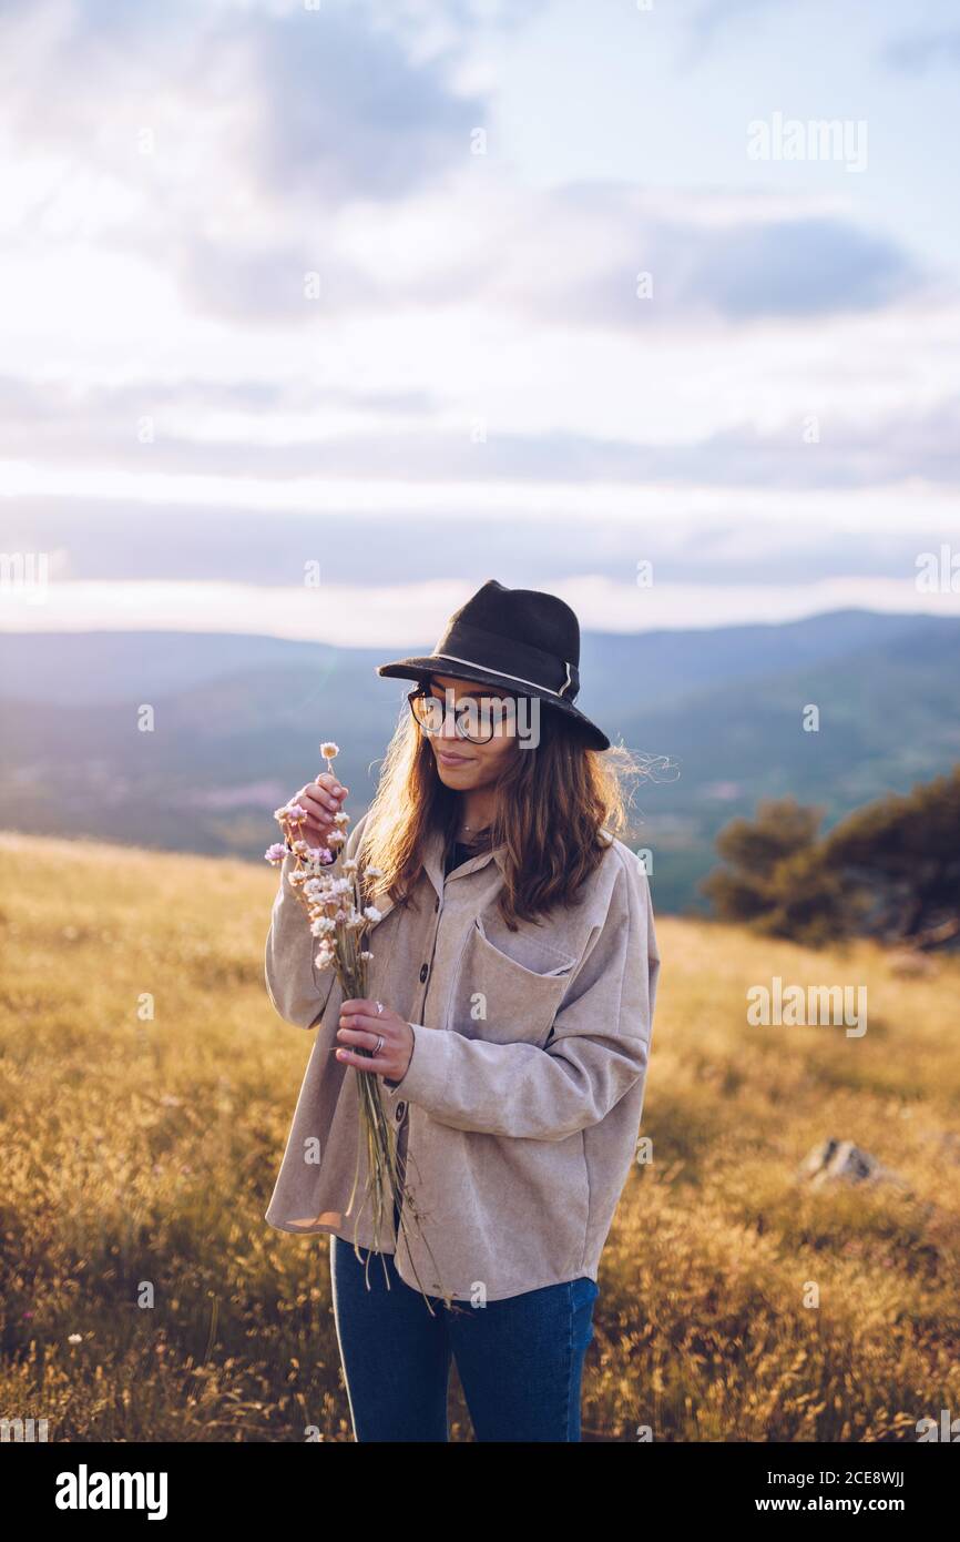
[[[960,614],[958,88],[951,0],[3,0],[0,626]]]

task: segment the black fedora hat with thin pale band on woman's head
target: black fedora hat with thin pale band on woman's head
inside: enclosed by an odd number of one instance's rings
[[[535,695],[562,712],[590,749],[610,740],[573,706],[579,691],[579,621],[555,594],[507,589],[488,578],[455,611],[431,654],[379,665],[378,674],[419,680],[428,674],[478,680],[512,695]]]

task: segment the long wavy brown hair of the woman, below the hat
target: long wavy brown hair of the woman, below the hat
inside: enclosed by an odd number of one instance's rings
[[[498,904],[512,931],[555,905],[579,904],[578,891],[609,843],[601,831],[613,836],[629,823],[626,777],[638,769],[623,746],[587,749],[567,719],[544,706],[536,748],[518,745],[496,783],[490,843],[505,848]],[[438,828],[453,839],[459,797],[441,782],[427,737],[404,711],[357,853],[361,867],[381,870],[379,893],[410,902],[424,842]]]

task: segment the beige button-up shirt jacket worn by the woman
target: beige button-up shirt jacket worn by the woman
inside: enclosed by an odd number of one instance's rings
[[[438,834],[413,893],[419,908],[378,899],[370,933],[370,996],[413,1025],[407,1073],[381,1089],[435,1264],[416,1227],[413,1258],[402,1235],[398,1247],[393,1217],[384,1251],[408,1284],[419,1277],[455,1300],[596,1280],[635,1156],[650,1052],[660,954],[646,871],[612,840],[579,907],[510,931],[496,908],[502,850],[445,880],[442,856]],[[285,856],[267,938],[267,990],[282,1018],[317,1035],[265,1220],[353,1241],[367,1178],[361,1163],[348,1215],[362,1073],[334,1058],[342,993],[313,964],[291,864]],[[362,1247],[373,1244],[368,1212]]]

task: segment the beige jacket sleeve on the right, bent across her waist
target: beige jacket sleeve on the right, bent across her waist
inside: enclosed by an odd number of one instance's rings
[[[658,976],[649,879],[636,857],[621,857],[607,916],[547,1047],[485,1044],[415,1022],[413,1056],[391,1092],[453,1129],[562,1141],[646,1084]]]

